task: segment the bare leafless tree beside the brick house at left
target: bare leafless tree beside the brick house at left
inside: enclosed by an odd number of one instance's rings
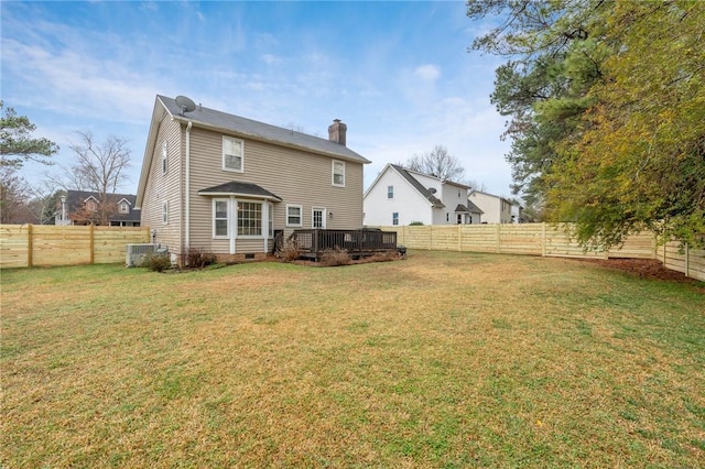
[[[90,217],[86,221],[109,225],[110,216],[118,208],[111,196],[127,181],[126,170],[130,166],[128,141],[110,135],[100,145],[95,142],[90,132],[78,132],[78,135],[80,143],[72,143],[69,146],[76,153],[76,164],[67,176],[73,188],[97,194],[96,210],[90,210]]]

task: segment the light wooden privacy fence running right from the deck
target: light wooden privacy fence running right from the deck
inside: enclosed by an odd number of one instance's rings
[[[583,259],[659,259],[668,269],[705,281],[705,251],[683,248],[676,241],[657,246],[651,232],[630,236],[621,248],[585,251],[566,232],[565,225],[424,225],[380,227],[397,231],[410,249],[496,252]]]

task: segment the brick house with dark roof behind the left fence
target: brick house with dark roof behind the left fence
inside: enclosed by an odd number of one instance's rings
[[[67,190],[66,196],[57,200],[55,225],[139,227],[135,198],[132,194],[108,194],[106,203],[101,203],[99,193]]]

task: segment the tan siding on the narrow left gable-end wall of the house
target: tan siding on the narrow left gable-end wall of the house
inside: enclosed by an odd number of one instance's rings
[[[181,254],[182,240],[182,135],[181,124],[171,120],[169,114],[160,122],[156,144],[147,179],[144,200],[142,203],[142,226],[150,227],[156,233],[155,241],[166,246],[171,252]],[[166,174],[162,174],[162,142],[167,142]],[[169,225],[162,223],[162,205],[169,204]]]

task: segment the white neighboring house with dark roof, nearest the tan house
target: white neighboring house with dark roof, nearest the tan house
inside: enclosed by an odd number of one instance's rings
[[[388,164],[365,192],[365,225],[479,223],[481,210],[468,203],[469,187]]]

